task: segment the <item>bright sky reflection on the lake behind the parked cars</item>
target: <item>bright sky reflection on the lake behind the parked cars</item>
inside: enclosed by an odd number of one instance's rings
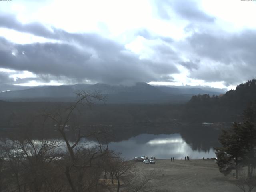
[[[112,142],[109,148],[122,152],[122,157],[132,159],[135,156],[155,156],[158,159],[184,159],[190,156],[191,159],[202,159],[215,157],[213,148],[209,151],[192,150],[192,148],[182,139],[180,134],[141,134],[129,140]]]

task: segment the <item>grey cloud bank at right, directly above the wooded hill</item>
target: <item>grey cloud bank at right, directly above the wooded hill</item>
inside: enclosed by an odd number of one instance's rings
[[[230,85],[256,77],[255,30],[236,34],[195,33],[187,41],[198,58],[214,62],[204,63],[204,67],[191,73],[192,78]]]

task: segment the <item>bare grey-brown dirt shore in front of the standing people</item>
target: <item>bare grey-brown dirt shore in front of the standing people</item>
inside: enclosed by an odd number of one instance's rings
[[[232,176],[225,177],[219,172],[214,160],[156,160],[156,164],[134,164],[137,171],[156,172],[150,184],[152,190],[159,192],[241,192],[231,183]]]

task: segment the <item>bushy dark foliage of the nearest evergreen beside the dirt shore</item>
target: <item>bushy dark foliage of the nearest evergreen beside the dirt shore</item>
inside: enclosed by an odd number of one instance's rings
[[[223,130],[219,137],[222,147],[216,148],[217,164],[225,176],[232,170],[247,166],[252,177],[256,166],[256,128],[252,122],[234,123],[230,130]]]

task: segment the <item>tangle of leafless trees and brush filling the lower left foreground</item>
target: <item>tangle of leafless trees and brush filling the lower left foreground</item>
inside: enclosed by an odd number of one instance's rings
[[[43,120],[43,128],[52,127],[59,133],[59,140],[43,137],[33,140],[29,134],[2,138],[1,192],[139,191],[140,186],[145,186],[148,180],[143,178],[136,188],[127,182],[135,178],[131,176],[132,163],[108,149],[109,133],[104,126],[87,128],[80,123],[83,117],[79,107],[91,106],[104,98],[84,91],[77,96],[69,108],[59,107],[39,118]],[[39,126],[40,122],[35,121]],[[111,176],[112,183],[106,180]]]

